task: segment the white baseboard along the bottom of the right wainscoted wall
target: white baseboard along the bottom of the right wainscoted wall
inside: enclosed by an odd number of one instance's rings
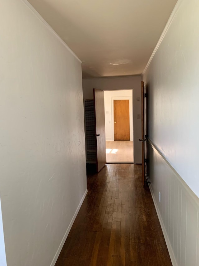
[[[164,227],[164,223],[163,223],[162,217],[160,215],[160,211],[158,209],[157,202],[155,201],[155,196],[154,196],[154,193],[153,193],[153,190],[152,190],[152,187],[151,187],[150,184],[149,184],[149,189],[150,189],[150,193],[151,193],[151,196],[152,196],[152,199],[153,199],[153,203],[155,205],[156,213],[158,215],[160,226],[162,228],[162,232],[163,232],[164,239],[165,239],[165,242],[166,242],[166,245],[167,245],[167,249],[169,251],[169,256],[170,256],[170,259],[171,259],[171,263],[172,263],[173,266],[178,266],[178,264],[176,262],[176,259],[175,259],[175,256],[174,256],[174,251],[173,251],[173,249],[171,247],[171,244],[170,244],[170,241],[169,241],[169,236],[167,235],[166,229]]]

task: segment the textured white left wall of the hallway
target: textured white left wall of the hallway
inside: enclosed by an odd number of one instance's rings
[[[27,5],[0,4],[0,194],[7,265],[47,266],[86,192],[81,62]]]

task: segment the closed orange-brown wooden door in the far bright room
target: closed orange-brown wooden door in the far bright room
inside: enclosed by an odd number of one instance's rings
[[[130,140],[129,100],[114,100],[114,139]]]

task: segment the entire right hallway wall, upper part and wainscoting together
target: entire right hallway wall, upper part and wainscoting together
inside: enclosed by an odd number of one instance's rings
[[[148,87],[148,136],[156,147],[155,152],[150,148],[151,191],[174,254],[173,265],[179,266],[199,265],[198,10],[199,1],[178,0],[143,77]]]

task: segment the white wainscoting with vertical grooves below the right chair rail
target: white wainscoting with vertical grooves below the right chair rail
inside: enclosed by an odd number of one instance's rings
[[[199,266],[199,198],[148,141],[149,186],[172,264]]]

